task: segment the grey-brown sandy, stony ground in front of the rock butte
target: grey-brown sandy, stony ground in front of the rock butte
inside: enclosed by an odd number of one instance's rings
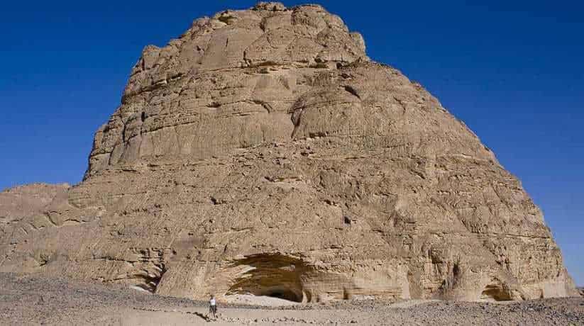
[[[0,325],[584,325],[584,298],[507,304],[363,300],[271,308],[232,303],[219,305],[216,320],[207,311],[206,303],[120,286],[0,274]]]

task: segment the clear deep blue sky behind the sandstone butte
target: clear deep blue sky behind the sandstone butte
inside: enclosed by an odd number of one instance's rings
[[[0,189],[79,182],[142,48],[253,2],[4,1]],[[583,1],[468,2],[320,1],[519,176],[584,285]]]

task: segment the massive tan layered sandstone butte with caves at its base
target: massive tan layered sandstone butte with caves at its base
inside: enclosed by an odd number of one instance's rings
[[[0,271],[297,302],[577,295],[541,210],[321,6],[145,47],[76,186],[0,194]]]

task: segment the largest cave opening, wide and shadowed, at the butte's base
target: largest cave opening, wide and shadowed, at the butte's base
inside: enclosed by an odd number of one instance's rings
[[[302,275],[307,267],[301,259],[282,254],[255,254],[238,259],[233,266],[243,267],[243,272],[233,281],[227,295],[269,296],[296,303],[304,300]]]

